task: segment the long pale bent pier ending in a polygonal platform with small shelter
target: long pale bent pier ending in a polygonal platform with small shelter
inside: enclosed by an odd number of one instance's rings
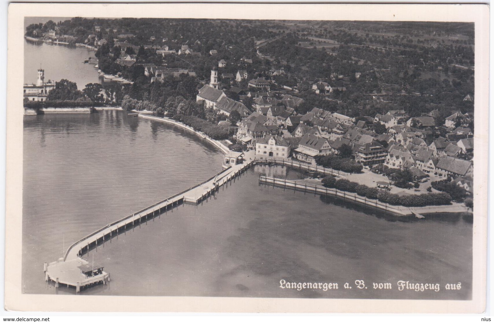
[[[78,268],[88,263],[85,262],[81,256],[92,249],[96,249],[97,251],[98,246],[102,246],[106,241],[111,240],[121,233],[125,233],[127,230],[133,230],[147,220],[159,217],[162,214],[166,214],[168,211],[173,211],[173,208],[176,208],[179,205],[184,203],[197,205],[215,194],[221,186],[240,176],[254,163],[254,161],[249,161],[243,164],[233,165],[193,187],[170,196],[165,200],[146,207],[134,214],[127,215],[120,220],[109,223],[81,238],[67,249],[62,258],[55,262],[44,263],[43,270],[45,272],[45,280],[55,281],[56,287],[58,287],[59,284],[76,286],[77,292],[80,291],[80,287],[85,285],[101,282],[104,284],[108,282],[110,276],[103,271],[101,271],[101,274],[99,275],[90,277],[82,274],[81,270],[78,270]],[[85,263],[82,263],[82,261]]]

